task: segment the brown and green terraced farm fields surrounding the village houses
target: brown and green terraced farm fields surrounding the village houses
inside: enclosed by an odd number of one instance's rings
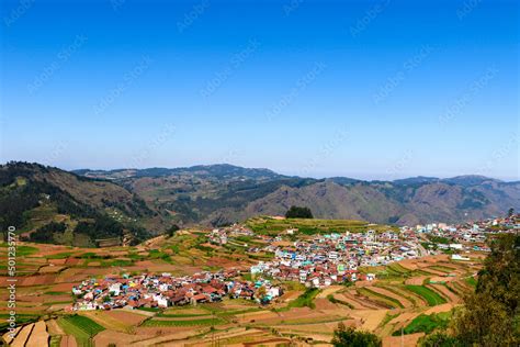
[[[341,223],[332,221],[328,226],[332,231]],[[405,334],[415,338],[422,334],[417,331],[427,331],[431,326],[425,317],[415,320],[426,315],[436,321],[438,316],[432,314],[450,312],[460,304],[461,296],[474,290],[474,276],[481,267],[478,256],[472,257],[471,261],[452,261],[443,255],[362,269],[376,273],[377,279],[351,287],[305,291],[299,283],[286,282],[282,284],[285,294],[269,306],[251,301],[224,300],[168,310],[64,314],[64,309],[74,301],[71,287],[86,278],[142,271],[183,275],[202,268],[238,266],[248,269],[249,265],[257,264],[257,259],[242,250],[236,254],[230,248],[207,244],[203,232],[181,233],[172,239],[159,237],[150,240],[149,245],[110,249],[24,245],[20,262],[27,265],[27,272],[20,277],[18,288],[21,298],[19,323],[23,327],[16,334],[20,343],[12,340],[11,345],[26,346],[30,340],[34,345],[36,340],[42,347],[90,346],[94,340],[108,345],[112,339],[122,346],[140,342],[144,345],[196,345],[212,335],[218,335],[229,344],[265,343],[273,338],[283,343],[290,342],[291,336],[293,339],[313,338],[316,343],[330,340],[340,322],[388,338],[403,328]],[[238,239],[233,247],[244,248],[246,243],[250,244],[250,240]],[[0,247],[0,258],[2,256],[5,251]],[[0,277],[0,284],[5,283],[4,279]],[[5,289],[0,289],[0,295],[5,298]],[[5,313],[2,316],[7,317]],[[46,332],[41,323],[36,323],[44,316]],[[38,334],[33,336],[34,332]],[[41,337],[36,338],[38,335]]]

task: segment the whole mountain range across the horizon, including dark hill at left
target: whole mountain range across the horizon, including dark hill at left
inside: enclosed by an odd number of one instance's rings
[[[520,210],[520,182],[483,176],[314,179],[226,164],[72,172],[27,163],[0,167],[3,230],[16,225],[34,231],[66,221],[67,231],[88,236],[87,244],[94,242],[95,227],[103,228],[101,216],[118,223],[104,235],[110,237],[143,228],[159,233],[172,224],[224,225],[260,214],[283,215],[291,205],[308,206],[315,217],[323,219],[397,225],[457,223],[504,215],[510,208]],[[79,223],[92,221],[101,225],[77,230]],[[65,237],[59,233],[54,232],[56,242]],[[70,237],[69,244],[86,238]]]

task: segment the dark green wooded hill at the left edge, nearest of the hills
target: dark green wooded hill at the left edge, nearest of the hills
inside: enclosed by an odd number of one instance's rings
[[[0,166],[0,227],[71,246],[134,243],[155,212],[125,188],[37,164]]]

